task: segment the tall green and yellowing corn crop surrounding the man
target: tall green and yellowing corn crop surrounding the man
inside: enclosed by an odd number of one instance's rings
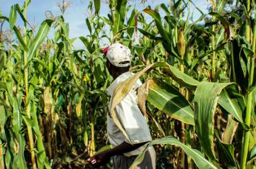
[[[196,7],[201,17],[192,21],[191,0],[141,11],[127,0],[90,0],[89,34],[77,38],[69,37],[65,8],[35,31],[27,21],[30,0],[14,4],[9,16],[0,15],[1,168],[90,168],[89,157],[111,148],[105,90],[113,79],[102,41],[120,41],[134,56],[135,75],[116,88],[110,113],[122,130],[113,109],[140,78],[138,104],[156,168],[255,168],[255,0],[210,4],[208,14]],[[84,49],[75,50],[74,41]]]

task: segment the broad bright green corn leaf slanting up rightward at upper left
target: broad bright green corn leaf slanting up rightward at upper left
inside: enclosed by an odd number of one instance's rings
[[[46,19],[43,21],[39,27],[39,30],[37,32],[37,35],[35,36],[35,39],[30,45],[30,48],[28,49],[28,57],[27,62],[25,63],[25,66],[28,66],[28,63],[31,59],[33,59],[36,50],[39,48],[39,46],[43,43],[44,39],[46,38],[50,28],[51,24],[54,21],[52,19]]]

